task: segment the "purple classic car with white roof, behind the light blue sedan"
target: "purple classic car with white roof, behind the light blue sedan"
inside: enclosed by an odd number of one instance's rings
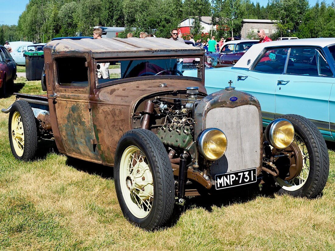
[[[233,40],[223,44],[220,52],[206,55],[205,63],[207,67],[232,66],[245,54],[245,52],[259,40]],[[217,64],[213,64],[214,58]]]

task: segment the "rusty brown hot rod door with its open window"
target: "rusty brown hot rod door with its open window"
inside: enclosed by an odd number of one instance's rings
[[[57,57],[54,92],[58,129],[67,155],[100,162],[90,108],[89,55]]]

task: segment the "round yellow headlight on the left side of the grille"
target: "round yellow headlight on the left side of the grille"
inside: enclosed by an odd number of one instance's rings
[[[227,150],[227,138],[220,129],[208,128],[199,135],[198,148],[205,159],[218,160]]]

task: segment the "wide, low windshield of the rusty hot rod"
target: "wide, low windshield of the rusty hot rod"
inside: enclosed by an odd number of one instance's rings
[[[96,60],[97,87],[128,78],[191,78],[183,74],[186,70],[198,71],[195,75],[199,76],[201,69],[199,66],[202,64],[200,59]],[[201,78],[192,77],[192,79],[201,81]]]

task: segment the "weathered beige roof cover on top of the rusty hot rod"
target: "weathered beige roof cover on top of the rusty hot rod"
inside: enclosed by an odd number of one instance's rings
[[[82,38],[78,40],[60,39],[50,41],[45,48],[51,48],[53,54],[59,53],[154,53],[159,54],[176,52],[183,55],[201,55],[204,50],[199,47],[190,46],[176,42],[173,39],[161,37],[146,38]],[[165,53],[164,53],[165,52]]]

